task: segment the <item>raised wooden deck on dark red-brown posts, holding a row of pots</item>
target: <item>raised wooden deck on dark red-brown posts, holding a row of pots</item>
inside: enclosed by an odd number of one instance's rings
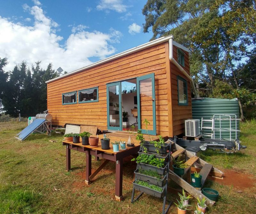
[[[98,147],[91,147],[90,145],[82,145],[81,139],[80,143],[75,144],[72,141],[62,141],[63,145],[66,145],[66,169],[70,170],[70,150],[84,152],[86,154],[86,173],[85,173],[85,183],[88,185],[92,182],[92,179],[100,172],[100,170],[111,161],[116,162],[116,189],[115,197],[117,201],[123,200],[123,158],[136,154],[140,149],[140,143],[135,139],[135,136],[128,132],[112,132],[108,133],[110,142],[115,141],[128,141],[129,136],[131,136],[134,143],[134,147],[127,147],[125,150],[120,150],[119,152],[113,151],[113,146],[110,143],[109,150],[101,149],[100,139],[103,138],[103,135],[99,135],[99,145]],[[92,136],[95,137],[95,136]],[[148,136],[144,136],[145,140],[149,140]],[[156,140],[158,137],[150,136],[151,140]],[[97,158],[103,158],[105,161],[92,173],[92,155]],[[132,184],[131,184],[132,185]]]

